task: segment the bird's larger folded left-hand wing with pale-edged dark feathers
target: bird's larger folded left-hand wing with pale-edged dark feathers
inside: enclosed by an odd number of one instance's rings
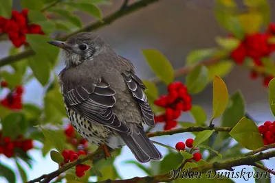
[[[66,105],[82,114],[89,121],[126,134],[131,132],[130,127],[122,123],[113,113],[112,107],[116,102],[115,90],[110,87],[110,84],[104,78],[101,78],[98,84],[90,82],[67,90],[67,93],[63,93],[63,95]]]

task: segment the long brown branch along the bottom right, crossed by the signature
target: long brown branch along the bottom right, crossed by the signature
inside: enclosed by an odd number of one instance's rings
[[[250,156],[245,156],[245,157],[241,157],[241,158],[234,158],[232,160],[227,160],[225,162],[214,162],[212,164],[206,164],[206,165],[203,165],[200,167],[192,168],[188,172],[189,173],[191,173],[191,172],[206,173],[209,170],[214,170],[214,171],[228,170],[228,169],[232,169],[232,167],[237,167],[237,166],[241,166],[241,165],[253,165],[253,162],[269,159],[274,156],[275,156],[275,151],[270,151],[270,152],[263,153],[263,154],[256,154],[256,155],[250,155]],[[165,173],[162,175],[146,176],[146,177],[142,177],[142,178],[135,177],[135,178],[127,179],[127,180],[104,180],[104,181],[94,182],[94,183],[170,182],[171,180],[177,179],[177,176],[173,177],[172,173],[173,173],[173,170],[171,170],[169,173]]]

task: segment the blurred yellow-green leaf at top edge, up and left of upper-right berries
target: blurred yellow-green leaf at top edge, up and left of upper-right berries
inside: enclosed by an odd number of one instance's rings
[[[245,32],[236,14],[236,3],[234,1],[216,0],[214,14],[223,28],[234,34],[236,38],[243,38]]]

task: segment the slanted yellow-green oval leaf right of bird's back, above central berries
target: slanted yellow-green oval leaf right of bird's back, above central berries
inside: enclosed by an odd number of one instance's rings
[[[162,53],[155,49],[142,50],[142,53],[151,69],[165,84],[170,84],[174,81],[173,66]]]

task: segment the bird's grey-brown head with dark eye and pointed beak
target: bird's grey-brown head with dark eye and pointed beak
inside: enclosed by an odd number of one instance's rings
[[[77,66],[85,61],[92,60],[107,45],[99,36],[91,32],[80,32],[69,37],[65,42],[51,40],[49,43],[63,49],[67,66]]]

